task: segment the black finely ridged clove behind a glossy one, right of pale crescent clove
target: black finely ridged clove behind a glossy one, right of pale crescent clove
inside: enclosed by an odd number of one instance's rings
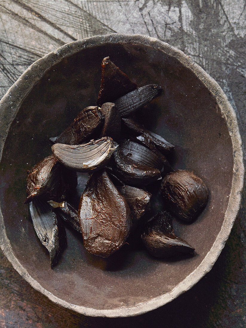
[[[134,141],[126,140],[120,144],[120,152],[133,162],[158,169],[164,174],[173,171],[166,157],[157,149],[153,151]]]

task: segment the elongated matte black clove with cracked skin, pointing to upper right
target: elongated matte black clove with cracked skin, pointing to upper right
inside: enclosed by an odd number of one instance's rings
[[[147,105],[151,100],[158,97],[161,92],[162,88],[159,85],[148,84],[144,87],[128,92],[114,102],[121,117],[126,117],[140,107]]]

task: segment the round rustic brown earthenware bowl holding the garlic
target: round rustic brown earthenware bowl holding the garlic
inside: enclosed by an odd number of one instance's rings
[[[207,207],[193,224],[174,221],[177,235],[196,253],[166,261],[141,244],[126,244],[103,259],[87,253],[81,236],[66,227],[68,247],[51,269],[23,204],[27,170],[51,154],[49,137],[62,132],[81,107],[95,104],[106,56],[139,86],[164,89],[138,119],[176,146],[174,169],[193,171],[209,189]],[[78,40],[32,64],[2,98],[0,115],[1,248],[36,290],[84,315],[135,316],[178,297],[212,268],[239,209],[243,155],[233,108],[189,56],[143,35]],[[78,194],[85,181],[80,174]],[[157,196],[154,202],[161,208]]]

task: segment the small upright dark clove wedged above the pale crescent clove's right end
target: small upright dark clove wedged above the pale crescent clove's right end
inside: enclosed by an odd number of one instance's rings
[[[121,116],[114,103],[104,103],[101,106],[101,113],[104,116],[104,124],[101,137],[111,137],[118,141],[121,135]]]

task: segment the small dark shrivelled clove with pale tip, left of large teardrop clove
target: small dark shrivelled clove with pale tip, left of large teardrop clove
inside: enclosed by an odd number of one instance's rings
[[[78,210],[67,201],[60,203],[49,201],[48,202],[59,217],[61,217],[65,222],[67,222],[73,229],[81,233],[81,228],[79,224]]]

